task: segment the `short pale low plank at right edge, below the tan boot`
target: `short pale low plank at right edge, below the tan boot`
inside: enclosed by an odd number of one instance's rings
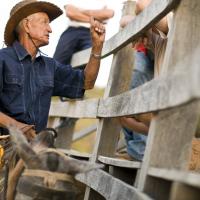
[[[179,170],[150,168],[148,169],[148,175],[200,188],[200,174]]]

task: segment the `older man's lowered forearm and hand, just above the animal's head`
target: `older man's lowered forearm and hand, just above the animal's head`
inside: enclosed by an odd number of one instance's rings
[[[31,128],[31,126],[29,126],[28,124],[18,122],[15,119],[0,112],[0,127],[8,129],[7,124],[14,124],[17,127],[19,127],[19,129],[22,130],[27,139],[29,137],[36,137],[35,131]]]

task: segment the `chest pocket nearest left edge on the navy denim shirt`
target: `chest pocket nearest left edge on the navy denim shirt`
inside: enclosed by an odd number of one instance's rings
[[[3,86],[3,99],[6,107],[23,108],[23,77],[6,74]]]

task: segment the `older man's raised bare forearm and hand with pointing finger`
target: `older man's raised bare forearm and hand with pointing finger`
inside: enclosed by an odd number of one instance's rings
[[[105,27],[98,21],[94,21],[92,12],[90,13],[90,34],[93,41],[92,53],[101,55],[103,42],[105,40]],[[85,81],[83,89],[88,90],[94,87],[99,72],[100,61],[100,58],[90,56],[90,60],[84,70]]]

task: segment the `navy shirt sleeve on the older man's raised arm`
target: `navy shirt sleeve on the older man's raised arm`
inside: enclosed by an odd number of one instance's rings
[[[53,96],[62,96],[70,99],[83,98],[85,75],[84,70],[74,70],[71,65],[62,65],[55,61]]]

